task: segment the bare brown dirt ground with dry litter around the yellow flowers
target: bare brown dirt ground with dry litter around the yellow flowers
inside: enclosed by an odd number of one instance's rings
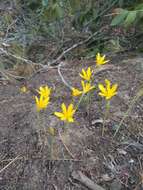
[[[61,73],[69,85],[80,86],[82,67],[95,67],[94,60],[66,61]],[[101,136],[105,102],[96,88],[89,109],[83,104],[62,138],[54,137],[53,157],[49,148],[39,144],[34,90],[40,85],[52,87],[51,102],[41,118],[45,127],[60,128],[53,115],[60,104],[72,101],[70,89],[63,83],[57,68],[35,74],[26,81],[28,93],[20,93],[23,82],[0,84],[0,190],[87,190],[76,172],[88,177],[105,190],[143,189],[143,98],[134,105],[119,133],[116,127],[143,87],[143,58],[140,55],[114,56],[110,64],[95,75],[95,85],[108,78],[118,83],[118,94],[111,101],[106,132]],[[57,130],[58,131],[58,130]],[[44,138],[45,136],[43,136]],[[47,133],[47,138],[50,138]],[[8,165],[9,164],[9,165]],[[96,190],[96,189],[95,189]]]

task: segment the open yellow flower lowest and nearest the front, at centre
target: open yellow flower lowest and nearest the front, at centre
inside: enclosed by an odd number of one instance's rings
[[[64,103],[61,105],[62,112],[55,112],[54,114],[60,118],[62,121],[74,122],[73,115],[75,113],[75,109],[73,108],[73,104],[70,104],[67,108]]]

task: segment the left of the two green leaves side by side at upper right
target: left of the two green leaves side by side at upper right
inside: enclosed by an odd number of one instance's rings
[[[111,22],[111,26],[118,26],[120,24],[124,23],[124,20],[126,19],[128,15],[127,10],[122,10],[119,15],[115,16]]]

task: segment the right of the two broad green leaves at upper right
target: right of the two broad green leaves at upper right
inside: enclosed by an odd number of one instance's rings
[[[124,26],[129,27],[131,24],[133,24],[137,17],[137,11],[129,11],[125,21]]]

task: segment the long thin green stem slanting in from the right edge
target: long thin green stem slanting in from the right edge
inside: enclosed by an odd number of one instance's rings
[[[120,123],[119,123],[119,125],[118,125],[118,127],[117,127],[117,129],[116,129],[116,131],[115,131],[113,137],[116,136],[116,134],[118,133],[118,131],[119,131],[120,127],[122,126],[124,120],[126,119],[126,117],[128,117],[128,115],[129,115],[129,113],[131,112],[131,110],[132,110],[134,104],[136,103],[136,101],[137,101],[141,96],[143,96],[143,88],[142,88],[141,90],[139,90],[139,92],[135,95],[135,97],[134,97],[133,100],[131,101],[131,104],[130,104],[129,108],[128,108],[128,110],[125,112],[125,114],[124,114],[122,120],[120,121]]]

